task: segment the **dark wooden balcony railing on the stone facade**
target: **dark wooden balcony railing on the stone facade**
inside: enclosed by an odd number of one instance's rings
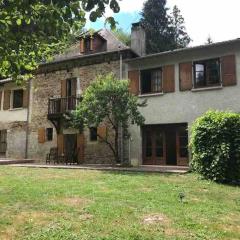
[[[78,97],[50,98],[48,101],[48,115],[61,115],[75,110],[80,101],[81,98]]]

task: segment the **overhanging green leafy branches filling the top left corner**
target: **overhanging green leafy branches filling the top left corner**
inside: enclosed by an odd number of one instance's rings
[[[118,0],[0,0],[0,76],[26,77],[68,46],[69,34],[86,22],[85,12],[96,21],[107,5],[120,10]],[[106,22],[115,25],[112,17]]]

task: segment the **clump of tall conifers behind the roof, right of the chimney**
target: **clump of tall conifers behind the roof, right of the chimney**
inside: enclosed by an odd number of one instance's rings
[[[190,42],[180,10],[174,6],[172,13],[168,11],[166,0],[148,0],[144,4],[141,23],[149,54],[183,48]]]

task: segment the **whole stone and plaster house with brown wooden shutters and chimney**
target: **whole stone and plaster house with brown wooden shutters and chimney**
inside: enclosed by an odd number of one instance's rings
[[[140,25],[133,25],[131,37],[129,48],[108,30],[87,34],[66,54],[42,64],[21,93],[1,80],[1,154],[45,161],[57,147],[59,156],[76,152],[79,163],[109,163],[112,154],[97,133],[111,137],[111,129],[103,124],[80,134],[65,127],[63,115],[75,109],[96,75],[114,72],[130,79],[140,100],[147,99],[141,109],[145,125],[130,126],[129,141],[119,139],[121,159],[132,165],[187,165],[192,122],[209,109],[240,112],[240,39],[146,55]],[[21,106],[12,107],[19,96]]]

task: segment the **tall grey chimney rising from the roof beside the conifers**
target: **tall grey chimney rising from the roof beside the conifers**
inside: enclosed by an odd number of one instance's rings
[[[140,22],[132,24],[131,49],[139,56],[146,55],[146,33]]]

